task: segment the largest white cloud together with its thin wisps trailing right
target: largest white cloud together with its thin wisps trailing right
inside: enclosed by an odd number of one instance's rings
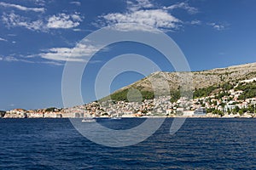
[[[227,23],[208,22],[205,20],[181,20],[178,19],[174,10],[181,9],[189,15],[199,14],[199,8],[193,7],[189,1],[174,3],[170,6],[154,4],[149,0],[127,0],[127,7],[124,12],[109,13],[99,16],[95,26],[113,26],[119,31],[178,31],[183,26],[212,26],[217,31],[226,30],[230,25]],[[189,18],[193,17],[189,16]]]

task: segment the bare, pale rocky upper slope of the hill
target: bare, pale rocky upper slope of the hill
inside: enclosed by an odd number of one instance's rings
[[[121,88],[113,94],[118,94],[129,88],[137,88],[140,91],[153,92],[152,82],[154,87],[163,90],[165,94],[167,82],[170,91],[175,91],[180,86],[189,90],[208,88],[210,86],[219,86],[224,83],[235,85],[237,82],[245,79],[256,77],[256,63],[246,65],[235,65],[227,68],[218,68],[209,71],[193,71],[193,72],[154,72],[148,77],[140,81],[134,82],[131,85]]]

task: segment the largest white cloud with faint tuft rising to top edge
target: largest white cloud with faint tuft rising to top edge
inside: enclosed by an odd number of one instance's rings
[[[116,29],[119,31],[153,30],[148,29],[148,27],[158,28],[163,31],[173,31],[177,30],[183,22],[170,14],[164,7],[155,7],[148,0],[137,0],[127,1],[127,11],[125,13],[102,15],[99,23],[103,23],[105,26],[117,25]],[[134,26],[134,24],[137,26]]]

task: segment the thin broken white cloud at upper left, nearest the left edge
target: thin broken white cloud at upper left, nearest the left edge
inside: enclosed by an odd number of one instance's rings
[[[13,12],[10,14],[4,13],[2,20],[8,27],[21,26],[33,31],[42,30],[42,27],[44,27],[44,22],[42,20],[30,21],[28,18],[22,17]]]

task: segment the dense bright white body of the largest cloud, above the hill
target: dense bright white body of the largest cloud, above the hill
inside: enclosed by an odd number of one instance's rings
[[[125,31],[129,30],[143,30],[143,26],[150,26],[154,28],[160,29],[177,29],[178,24],[181,23],[181,20],[178,20],[172,14],[168,14],[166,10],[162,9],[148,9],[148,10],[138,10],[131,13],[114,13],[107,14],[102,16],[108,23],[108,25],[113,24],[127,24],[121,25],[120,29],[125,29]],[[129,24],[137,24],[137,27],[129,26]],[[147,31],[147,30],[143,30]]]

